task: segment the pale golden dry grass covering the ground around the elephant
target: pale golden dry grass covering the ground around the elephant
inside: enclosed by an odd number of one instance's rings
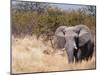
[[[95,57],[82,63],[68,64],[65,51],[52,49],[49,42],[35,36],[12,38],[12,72],[48,72],[77,69],[94,69]]]

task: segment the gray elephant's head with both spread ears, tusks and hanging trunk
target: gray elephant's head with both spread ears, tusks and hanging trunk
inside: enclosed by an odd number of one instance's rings
[[[56,48],[65,48],[69,57],[69,62],[74,61],[74,51],[91,40],[88,27],[76,25],[73,27],[60,26],[56,29]]]

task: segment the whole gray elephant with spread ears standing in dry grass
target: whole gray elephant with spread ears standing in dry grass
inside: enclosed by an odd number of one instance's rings
[[[65,48],[68,55],[68,62],[81,62],[92,57],[94,42],[91,32],[86,25],[73,27],[60,26],[55,32],[56,48]]]

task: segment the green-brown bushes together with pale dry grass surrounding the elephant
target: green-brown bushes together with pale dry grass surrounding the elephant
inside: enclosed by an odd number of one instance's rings
[[[77,24],[87,25],[95,36],[96,7],[62,10],[52,3],[12,2],[12,72],[94,69],[95,56],[90,61],[68,64],[66,52],[56,50],[54,53],[47,41],[52,39],[57,27]]]

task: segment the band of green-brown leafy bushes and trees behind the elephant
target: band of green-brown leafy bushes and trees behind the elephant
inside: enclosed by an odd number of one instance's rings
[[[92,7],[63,11],[47,3],[22,2],[18,6],[12,8],[12,34],[15,36],[36,34],[37,37],[43,35],[49,38],[61,25],[85,24],[95,29],[96,16],[88,14],[95,11]]]

